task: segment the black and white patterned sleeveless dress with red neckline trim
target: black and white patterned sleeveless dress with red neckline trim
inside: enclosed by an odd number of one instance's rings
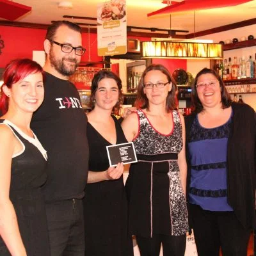
[[[138,109],[140,127],[134,139],[138,163],[131,165],[126,182],[129,200],[129,232],[180,236],[188,230],[188,211],[181,186],[178,154],[182,149],[182,125],[172,111],[170,134],[156,131]]]

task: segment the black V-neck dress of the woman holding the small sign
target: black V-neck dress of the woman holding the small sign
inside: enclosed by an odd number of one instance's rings
[[[125,143],[124,132],[115,116],[116,144]],[[109,168],[106,146],[111,145],[88,123],[89,170]],[[127,236],[127,198],[123,176],[87,184],[84,196],[84,230],[86,256],[133,255],[132,238]]]

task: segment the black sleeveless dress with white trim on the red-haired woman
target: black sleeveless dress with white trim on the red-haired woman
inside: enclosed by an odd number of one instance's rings
[[[12,129],[13,134],[24,145],[24,150],[12,158],[10,184],[10,200],[17,215],[20,236],[28,256],[49,256],[47,220],[41,191],[47,178],[45,158],[33,143],[22,136],[15,125],[1,119],[0,125],[3,123]],[[0,255],[11,255],[1,236]]]

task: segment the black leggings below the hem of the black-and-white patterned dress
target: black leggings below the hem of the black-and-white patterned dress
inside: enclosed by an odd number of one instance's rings
[[[161,243],[164,256],[184,256],[186,235],[166,236],[154,234],[152,238],[136,236],[141,256],[159,256]]]

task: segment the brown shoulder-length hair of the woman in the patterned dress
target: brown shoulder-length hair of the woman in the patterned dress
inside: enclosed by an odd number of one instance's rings
[[[173,79],[172,75],[168,71],[168,69],[161,64],[152,64],[152,65],[148,66],[142,73],[140,83],[138,85],[136,106],[139,106],[140,108],[148,109],[148,99],[143,90],[144,89],[144,78],[147,75],[147,73],[152,70],[161,71],[167,77],[168,83],[172,83],[172,90],[170,92],[168,92],[168,95],[166,98],[166,111],[169,112],[173,109],[177,109],[177,104],[175,102],[175,92],[176,92],[177,85],[176,85],[175,80]]]

